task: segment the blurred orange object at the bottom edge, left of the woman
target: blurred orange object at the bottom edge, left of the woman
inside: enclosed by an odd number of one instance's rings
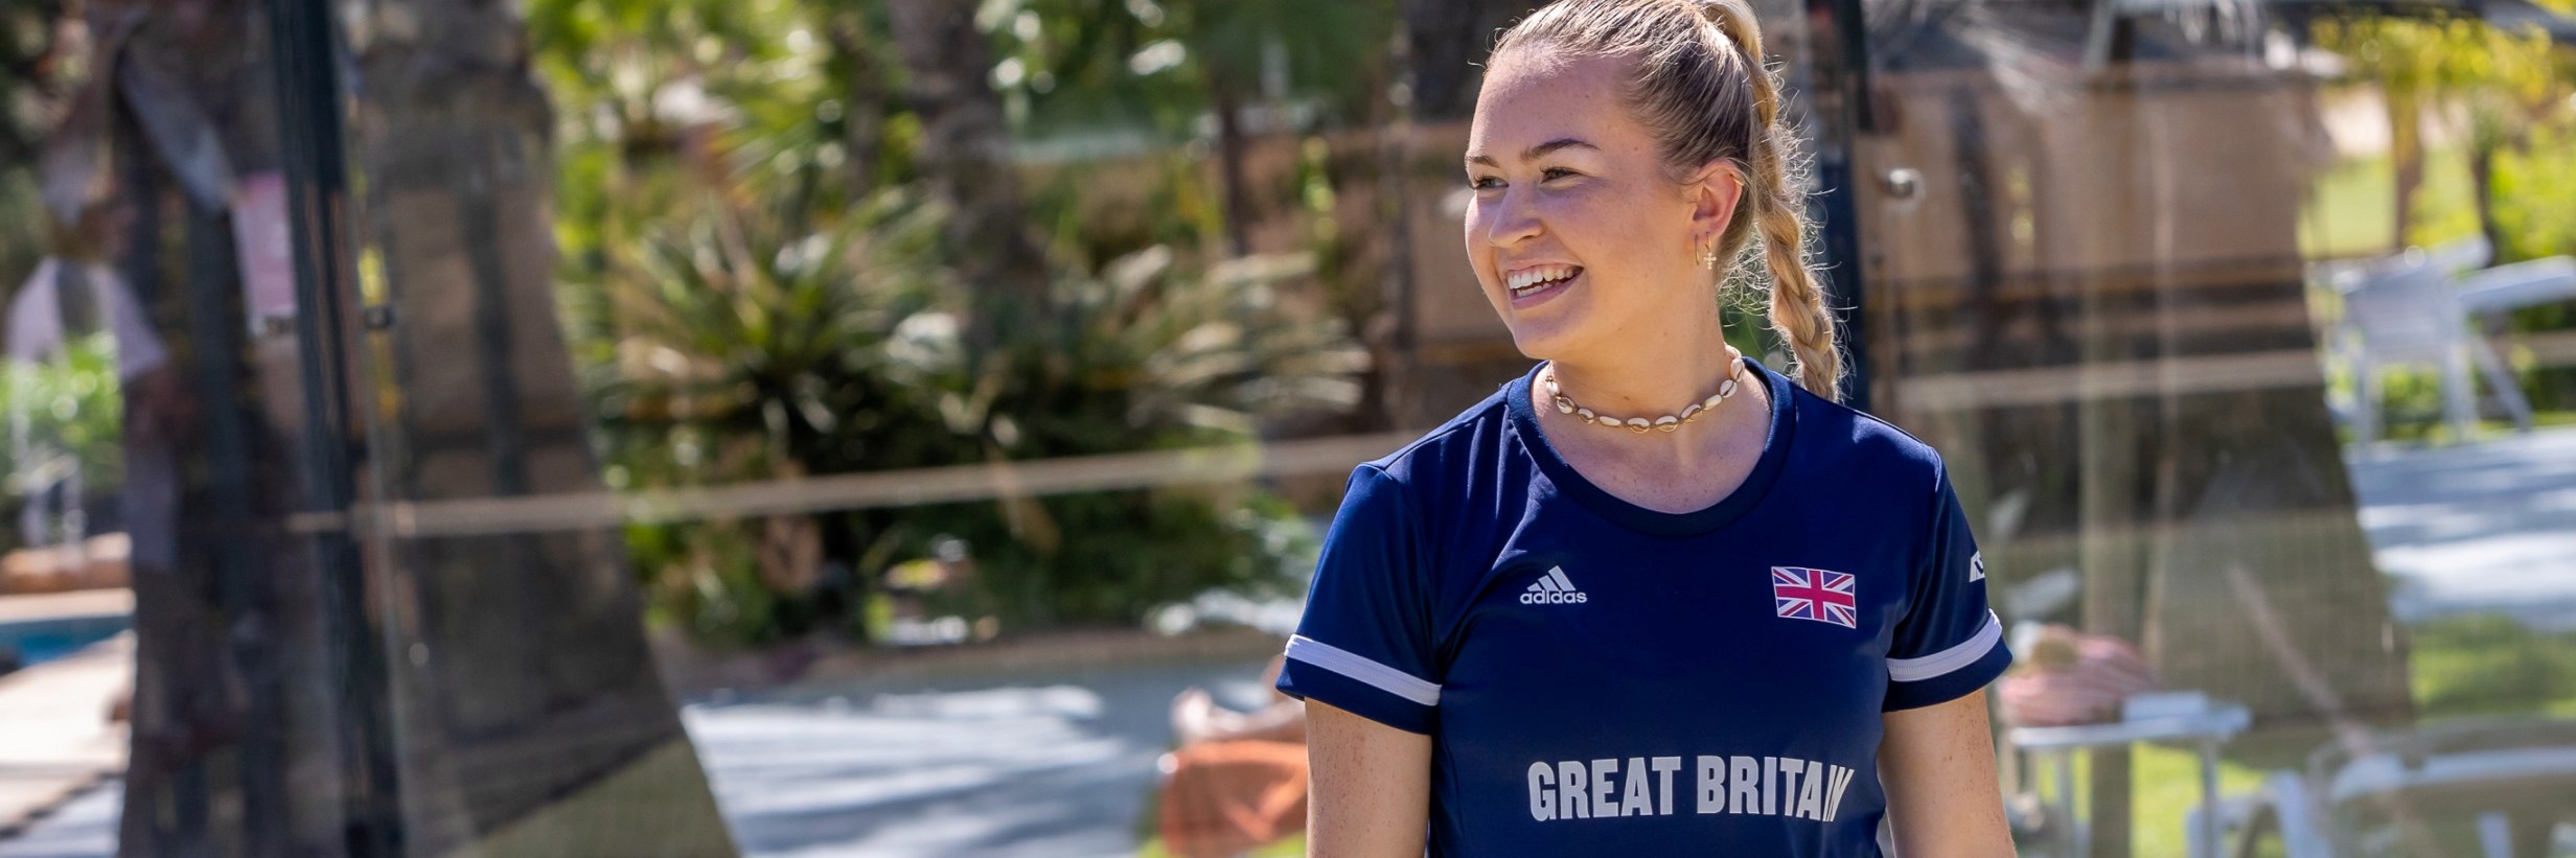
[[[1306,830],[1306,745],[1200,742],[1172,752],[1162,843],[1182,858],[1226,858]]]

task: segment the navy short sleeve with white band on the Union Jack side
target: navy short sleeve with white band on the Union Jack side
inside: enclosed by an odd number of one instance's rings
[[[1927,533],[1914,595],[1888,644],[1886,711],[1971,696],[2012,665],[2004,624],[1986,608],[1986,559],[1947,474],[1937,477]]]

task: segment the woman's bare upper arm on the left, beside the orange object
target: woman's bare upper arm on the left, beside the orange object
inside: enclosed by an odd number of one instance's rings
[[[1419,858],[1430,827],[1432,737],[1306,703],[1306,855]]]

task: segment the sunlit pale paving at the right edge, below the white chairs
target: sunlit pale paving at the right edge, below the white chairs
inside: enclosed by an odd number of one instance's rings
[[[2401,621],[2576,631],[2576,428],[2354,459],[2352,487]]]

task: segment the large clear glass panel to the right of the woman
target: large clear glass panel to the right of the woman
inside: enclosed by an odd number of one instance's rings
[[[2117,719],[2141,662],[2251,716],[2218,786],[2287,778],[2295,843],[2476,853],[2496,814],[2545,853],[2576,770],[2494,760],[2571,747],[2543,665],[2576,654],[2576,554],[2543,497],[2576,466],[2548,428],[2576,278],[2512,263],[2576,245],[2522,209],[2568,188],[2506,165],[2566,155],[2563,49],[2347,5],[1878,3],[1868,39],[1873,407],[1976,520],[2025,654],[2007,721]],[[2192,845],[2197,739],[2063,770],[2045,729],[2007,739],[2025,855]],[[2460,781],[2349,781],[2409,747]],[[2081,806],[2040,801],[2056,773]]]

